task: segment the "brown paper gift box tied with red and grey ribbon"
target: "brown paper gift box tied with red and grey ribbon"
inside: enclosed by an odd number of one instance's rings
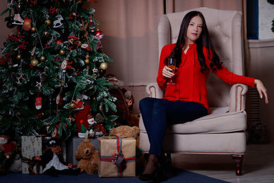
[[[99,143],[99,177],[134,177],[136,140],[132,137],[101,136]]]

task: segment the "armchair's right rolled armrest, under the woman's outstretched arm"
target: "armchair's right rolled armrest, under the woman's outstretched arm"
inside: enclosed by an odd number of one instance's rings
[[[248,88],[245,84],[234,84],[230,88],[230,112],[245,110],[245,95],[247,94],[247,90]]]

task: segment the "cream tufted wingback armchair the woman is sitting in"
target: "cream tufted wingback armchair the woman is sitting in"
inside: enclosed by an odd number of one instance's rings
[[[193,9],[205,16],[210,37],[223,65],[229,71],[243,75],[242,13],[210,8]],[[175,43],[185,12],[164,14],[158,25],[159,53],[164,45]],[[247,86],[225,84],[216,75],[208,78],[210,114],[195,121],[171,125],[164,137],[166,154],[229,154],[236,162],[236,175],[242,175],[241,164],[246,149],[245,94]],[[147,85],[150,97],[162,98],[157,83]],[[149,151],[149,140],[140,118],[140,149]]]

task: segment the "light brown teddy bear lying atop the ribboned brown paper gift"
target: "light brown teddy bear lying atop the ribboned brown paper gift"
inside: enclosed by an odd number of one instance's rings
[[[136,126],[130,127],[127,125],[121,125],[110,130],[110,136],[133,137],[137,139],[139,134],[140,129]]]

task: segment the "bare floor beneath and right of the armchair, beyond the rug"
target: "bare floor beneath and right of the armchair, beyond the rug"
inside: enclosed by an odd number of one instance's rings
[[[229,155],[172,154],[173,166],[227,182],[274,182],[274,144],[247,145],[243,175]]]

